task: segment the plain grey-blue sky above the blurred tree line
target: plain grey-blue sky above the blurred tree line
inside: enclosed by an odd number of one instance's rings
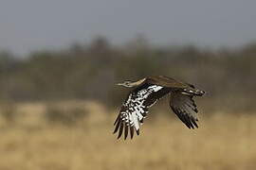
[[[1,0],[0,49],[17,54],[145,35],[156,44],[256,41],[255,0]]]

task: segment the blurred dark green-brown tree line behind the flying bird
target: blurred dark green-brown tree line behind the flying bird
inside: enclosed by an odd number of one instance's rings
[[[65,49],[31,52],[19,58],[0,53],[0,100],[95,99],[117,106],[125,79],[173,76],[205,90],[209,110],[255,110],[256,44],[206,49],[155,46],[146,41],[114,45],[104,38]]]

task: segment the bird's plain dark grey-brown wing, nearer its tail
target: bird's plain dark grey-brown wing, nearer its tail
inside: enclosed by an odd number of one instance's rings
[[[192,100],[192,95],[172,92],[170,98],[170,107],[178,118],[189,128],[198,127],[196,121],[196,105]]]

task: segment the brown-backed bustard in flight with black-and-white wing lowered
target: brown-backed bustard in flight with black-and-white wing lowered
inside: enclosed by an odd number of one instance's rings
[[[124,140],[130,131],[139,134],[140,124],[147,116],[149,108],[164,95],[170,93],[170,107],[178,118],[189,128],[198,127],[196,105],[193,96],[202,96],[205,92],[196,89],[192,84],[168,76],[148,76],[136,82],[124,81],[117,85],[133,88],[128,94],[114,123],[114,133],[119,132],[118,139],[124,131]]]

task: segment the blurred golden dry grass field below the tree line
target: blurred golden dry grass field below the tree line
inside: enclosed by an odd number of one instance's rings
[[[114,111],[93,102],[75,103],[87,109],[75,126],[48,123],[43,104],[17,105],[14,119],[2,116],[0,169],[256,169],[255,114],[217,112],[207,117],[200,112],[196,130],[160,114],[145,121],[139,137],[123,141],[112,134]],[[67,110],[66,103],[59,105]]]

